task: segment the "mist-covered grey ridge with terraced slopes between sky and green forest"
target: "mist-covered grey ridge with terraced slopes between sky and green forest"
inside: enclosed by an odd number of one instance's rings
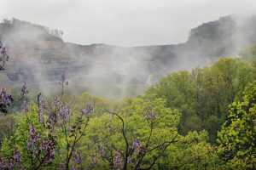
[[[184,32],[185,33],[185,32]],[[3,20],[0,37],[11,56],[1,85],[26,81],[44,94],[67,74],[73,93],[89,92],[120,99],[136,96],[160,77],[209,65],[256,42],[256,17],[222,17],[192,29],[188,41],[176,45],[118,47],[63,42],[63,32],[20,20]]]

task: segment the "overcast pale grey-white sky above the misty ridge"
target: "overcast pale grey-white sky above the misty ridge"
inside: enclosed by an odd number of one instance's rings
[[[66,42],[120,46],[185,42],[202,22],[255,11],[256,0],[0,1],[0,20],[14,17],[59,29]]]

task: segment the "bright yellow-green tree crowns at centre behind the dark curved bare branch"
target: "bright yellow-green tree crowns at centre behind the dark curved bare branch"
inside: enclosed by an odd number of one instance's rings
[[[150,135],[150,123],[145,118],[148,107],[152,108],[156,122],[154,122],[152,137],[148,145],[150,148],[162,144],[165,141],[172,140],[177,135],[177,123],[179,113],[177,110],[171,110],[165,107],[164,99],[155,98],[154,96],[145,96],[140,99],[125,99],[124,107],[118,111],[119,115],[125,121],[125,133],[128,142],[131,145],[133,139],[141,140],[145,146]],[[86,162],[90,162],[90,154],[98,153],[99,144],[107,144],[109,148],[114,146],[118,150],[125,150],[125,140],[121,133],[121,122],[116,116],[106,113],[102,116],[90,120],[88,126],[88,136],[85,143],[84,154],[88,156]],[[114,153],[114,150],[113,150]],[[145,157],[147,167],[152,162],[153,156],[158,151],[153,151]],[[100,160],[99,160],[100,161]],[[108,167],[108,163],[100,161],[97,168]],[[130,168],[132,165],[130,165]]]

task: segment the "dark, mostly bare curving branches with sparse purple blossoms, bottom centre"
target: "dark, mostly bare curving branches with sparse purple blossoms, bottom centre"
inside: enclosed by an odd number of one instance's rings
[[[106,110],[107,111],[107,110]],[[121,129],[121,132],[122,132],[122,135],[123,135],[123,138],[125,139],[125,150],[124,150],[124,153],[120,150],[118,150],[113,144],[112,144],[112,147],[113,149],[115,150],[115,155],[114,157],[112,158],[113,159],[113,167],[115,169],[120,169],[120,156],[123,157],[123,170],[126,170],[128,168],[128,164],[132,164],[132,162],[134,162],[134,167],[132,169],[143,169],[142,166],[145,166],[143,165],[145,161],[143,161],[144,157],[149,153],[149,152],[152,152],[153,150],[159,150],[158,151],[158,154],[156,156],[153,156],[153,160],[151,161],[151,163],[148,165],[147,168],[145,169],[150,169],[154,166],[155,162],[157,160],[160,159],[161,156],[164,155],[166,149],[170,146],[170,144],[173,144],[175,142],[177,142],[176,138],[177,138],[177,134],[174,136],[174,138],[170,141],[164,141],[163,143],[161,144],[158,144],[157,146],[154,146],[153,148],[151,149],[148,149],[149,147],[149,141],[150,139],[152,138],[152,133],[153,133],[153,128],[154,128],[154,122],[156,121],[156,116],[154,115],[154,112],[152,111],[152,109],[148,109],[146,111],[146,119],[147,121],[149,122],[149,127],[150,127],[150,133],[149,133],[149,136],[148,136],[148,139],[146,140],[146,144],[145,146],[143,146],[142,142],[137,140],[137,139],[133,139],[132,141],[132,144],[130,146],[129,142],[128,142],[128,139],[126,137],[126,133],[125,133],[125,121],[124,119],[119,116],[119,114],[113,112],[113,111],[107,111],[108,113],[110,114],[113,114],[114,116],[117,116],[119,118],[119,120],[122,122],[122,129]],[[107,147],[108,150],[109,147]],[[100,150],[100,153],[102,152],[102,149]],[[105,152],[105,151],[104,151]],[[103,153],[104,153],[103,152]],[[111,150],[111,153],[112,153],[112,150]],[[134,154],[136,154],[136,160],[132,160],[131,156],[133,156]],[[101,154],[102,155],[102,154]],[[104,154],[104,156],[106,156],[106,154]],[[103,157],[103,156],[102,156]],[[109,159],[107,159],[109,160]],[[110,159],[111,160],[111,159]],[[147,161],[148,162],[148,161]]]

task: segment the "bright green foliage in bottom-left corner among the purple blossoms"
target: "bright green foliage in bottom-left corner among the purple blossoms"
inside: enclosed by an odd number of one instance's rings
[[[32,151],[27,149],[27,141],[29,139],[29,124],[32,124],[35,128],[36,132],[39,133],[38,145],[42,142],[43,139],[46,139],[48,132],[43,124],[38,122],[38,108],[37,105],[31,104],[30,111],[27,114],[21,113],[17,116],[19,122],[15,125],[15,134],[9,139],[5,139],[3,141],[3,146],[1,148],[1,155],[3,158],[8,159],[9,157],[13,157],[14,149],[16,148],[20,152],[21,165],[23,167],[27,167],[28,169],[33,169],[38,167],[41,163],[39,159],[35,160],[33,158]],[[56,148],[57,150],[57,148]],[[42,154],[39,158],[43,158]],[[56,155],[56,159],[51,164],[48,165],[48,168],[56,166],[56,161],[58,161],[58,155]]]

